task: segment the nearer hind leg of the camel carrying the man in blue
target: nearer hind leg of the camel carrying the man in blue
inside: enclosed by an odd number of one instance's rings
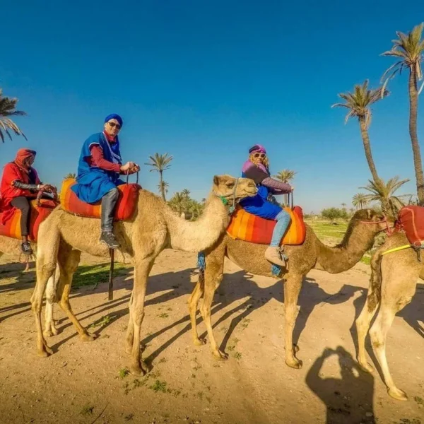
[[[45,246],[38,247],[37,252],[37,282],[35,283],[35,289],[31,296],[31,309],[35,316],[35,326],[37,329],[37,354],[42,357],[47,357],[53,353],[52,349],[47,346],[47,342],[42,333],[41,309],[47,281],[54,275],[54,270],[57,266],[56,257],[58,246],[59,235],[57,235],[57,239],[55,239],[53,235],[49,243]]]

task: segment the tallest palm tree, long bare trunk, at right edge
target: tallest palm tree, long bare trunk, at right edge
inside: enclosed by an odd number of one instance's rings
[[[421,162],[420,144],[417,136],[417,112],[418,112],[418,95],[423,89],[423,85],[418,90],[417,81],[423,79],[423,71],[421,69],[421,61],[423,60],[424,40],[421,40],[424,23],[416,25],[408,35],[396,32],[397,40],[393,40],[393,46],[388,52],[382,53],[382,56],[396,57],[398,61],[391,65],[382,76],[384,86],[389,79],[394,78],[396,73],[401,73],[403,69],[409,69],[409,136],[411,136],[413,165],[416,172],[417,194],[420,206],[424,206],[424,174],[423,164]],[[384,87],[383,86],[383,87]]]

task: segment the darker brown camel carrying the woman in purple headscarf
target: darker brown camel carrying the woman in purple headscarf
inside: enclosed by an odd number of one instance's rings
[[[302,245],[285,247],[285,253],[288,255],[288,271],[285,274],[281,273],[281,278],[284,278],[285,363],[289,367],[302,367],[302,361],[295,356],[298,346],[293,346],[293,329],[298,314],[297,302],[303,278],[313,268],[329,273],[351,269],[372,247],[377,232],[385,228],[383,218],[370,209],[355,212],[343,241],[336,247],[328,247],[320,242],[309,226]],[[200,274],[189,299],[189,311],[194,344],[204,344],[206,342],[199,338],[196,328],[197,305],[204,295],[200,311],[211,341],[212,353],[218,359],[226,359],[228,355],[219,350],[213,336],[211,304],[213,294],[223,278],[225,256],[245,271],[271,276],[271,264],[264,259],[265,249],[266,245],[232,240],[223,234],[215,245],[205,251],[206,269],[204,275]]]

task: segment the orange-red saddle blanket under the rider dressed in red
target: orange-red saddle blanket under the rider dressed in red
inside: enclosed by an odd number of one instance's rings
[[[53,209],[57,204],[52,200],[41,199],[40,206],[37,206],[37,201],[34,199],[30,202],[31,212],[30,212],[30,234],[28,238],[36,242],[38,236],[38,228],[43,220],[52,213]],[[1,216],[1,214],[0,214]],[[22,238],[20,233],[20,210],[16,209],[13,213],[13,216],[6,221],[5,225],[0,224],[0,235],[6,237],[12,237],[16,239]]]

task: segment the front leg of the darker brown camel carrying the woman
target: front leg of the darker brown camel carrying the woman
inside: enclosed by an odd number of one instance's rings
[[[285,307],[285,363],[289,367],[300,369],[302,361],[295,356],[293,346],[293,329],[295,328],[296,317],[298,316],[298,298],[302,288],[302,275],[289,273],[284,283],[284,307]]]

